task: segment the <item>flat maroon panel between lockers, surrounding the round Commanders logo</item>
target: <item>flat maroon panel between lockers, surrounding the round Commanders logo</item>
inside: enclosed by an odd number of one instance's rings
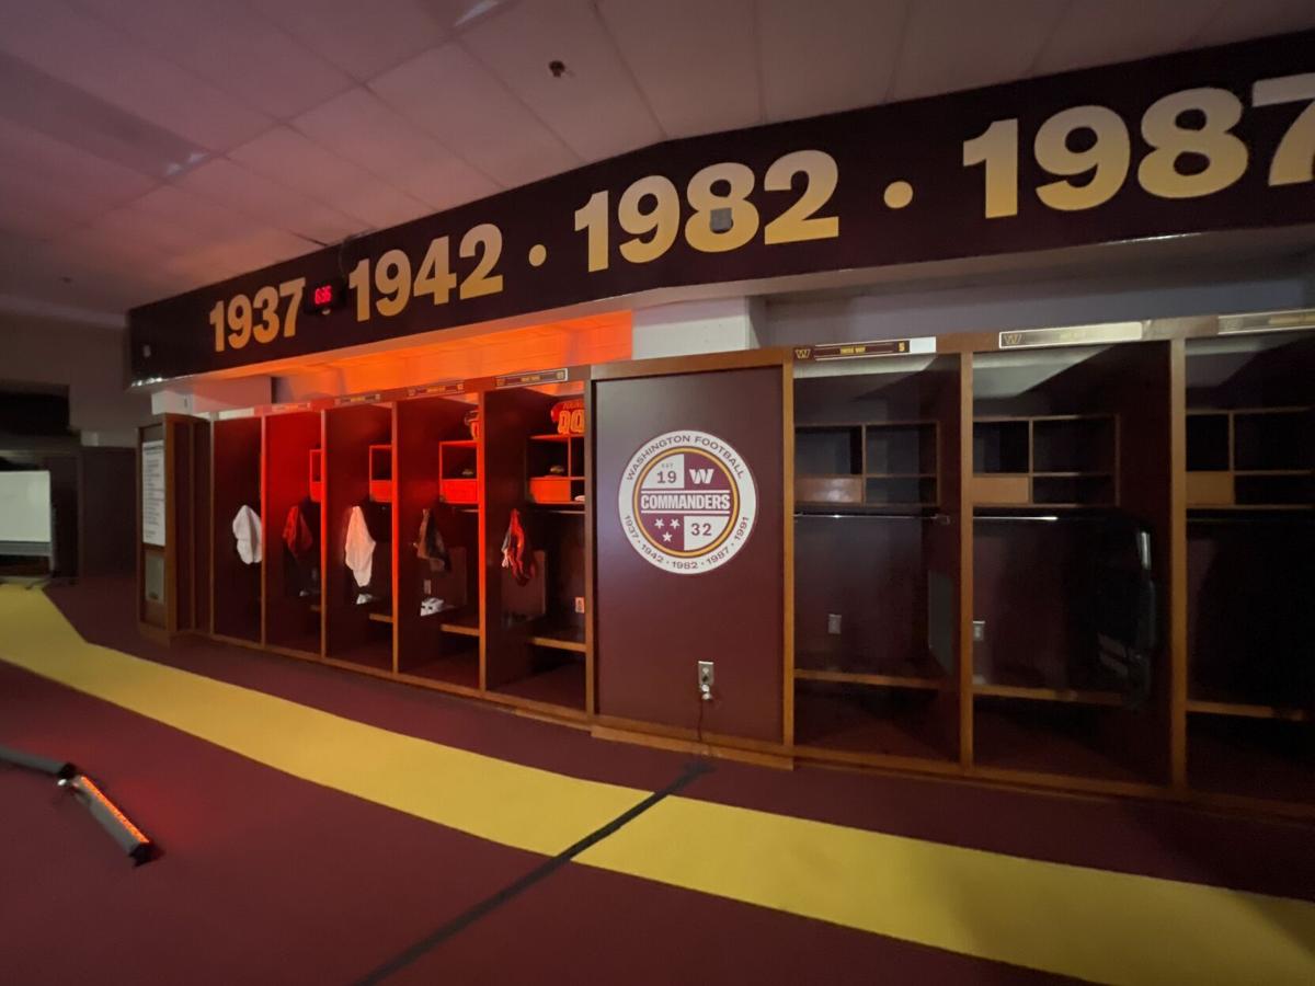
[[[781,369],[764,367],[598,381],[594,389],[598,711],[625,719],[780,741],[782,738],[784,461]],[[667,431],[696,429],[734,447],[757,488],[740,551],[675,575],[631,546],[617,511],[630,458]],[[713,660],[717,701],[698,698]]]

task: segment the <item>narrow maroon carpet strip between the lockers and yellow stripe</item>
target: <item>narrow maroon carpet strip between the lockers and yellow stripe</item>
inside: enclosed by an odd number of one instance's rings
[[[289,657],[209,642],[159,647],[137,632],[133,592],[132,580],[100,580],[49,594],[93,643],[397,732],[647,790],[668,784],[686,761],[685,755],[594,740],[580,730]],[[682,795],[1014,856],[1315,899],[1312,824],[1156,802],[726,761]]]

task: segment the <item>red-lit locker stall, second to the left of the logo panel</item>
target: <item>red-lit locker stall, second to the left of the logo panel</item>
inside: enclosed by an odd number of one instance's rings
[[[397,670],[480,688],[479,397],[397,402]]]

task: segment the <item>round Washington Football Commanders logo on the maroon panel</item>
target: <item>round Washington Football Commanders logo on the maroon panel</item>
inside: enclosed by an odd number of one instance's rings
[[[715,435],[668,431],[630,458],[617,511],[646,561],[700,575],[725,565],[748,540],[757,489],[744,459]]]

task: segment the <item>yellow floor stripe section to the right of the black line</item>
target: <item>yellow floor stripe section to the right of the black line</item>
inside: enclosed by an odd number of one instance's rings
[[[1315,982],[1315,906],[668,798],[581,862],[1114,983]]]

